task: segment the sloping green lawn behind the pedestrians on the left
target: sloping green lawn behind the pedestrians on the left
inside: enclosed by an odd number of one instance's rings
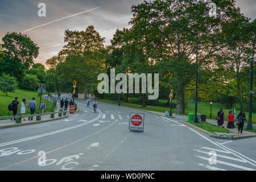
[[[9,92],[8,96],[6,96],[5,93],[0,91],[0,100],[1,100],[1,102],[0,102],[0,116],[13,115],[13,111],[9,112],[8,105],[11,104],[11,102],[13,100],[15,100],[15,97],[18,97],[18,101],[19,101],[18,113],[20,113],[21,102],[22,102],[23,98],[26,98],[26,102],[27,102],[27,105],[28,105],[28,102],[32,100],[32,97],[35,97],[36,107],[39,108],[40,97],[38,96],[37,91],[16,89],[14,92]],[[43,98],[42,98],[42,101],[43,101]],[[47,113],[47,112],[51,111],[51,109],[49,109],[49,106],[52,107],[53,104],[49,101],[46,101],[46,100],[44,100],[44,102],[46,103],[46,108],[47,108],[47,110],[44,110],[44,113]],[[55,108],[53,108],[53,110],[55,110],[56,108],[57,107],[55,106]],[[41,109],[37,109],[37,111],[41,111]],[[8,112],[9,112],[9,114],[8,114]],[[25,115],[27,115],[27,114],[30,114],[30,112],[28,112],[27,108],[26,108]]]

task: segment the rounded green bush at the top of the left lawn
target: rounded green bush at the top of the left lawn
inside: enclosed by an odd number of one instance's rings
[[[21,87],[27,90],[36,90],[39,87],[40,80],[35,75],[26,75],[23,78]]]

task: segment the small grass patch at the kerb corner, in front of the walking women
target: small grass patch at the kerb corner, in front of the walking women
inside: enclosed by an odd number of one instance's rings
[[[208,123],[208,122],[193,123],[193,121],[185,121],[185,122],[191,125],[200,127],[200,129],[207,130],[213,134],[215,134],[214,132],[229,133],[228,129],[225,129],[224,127],[218,127],[217,125],[213,125],[212,123]]]

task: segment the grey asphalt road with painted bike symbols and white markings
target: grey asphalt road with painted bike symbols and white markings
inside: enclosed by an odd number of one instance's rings
[[[141,111],[76,103],[68,118],[0,130],[0,170],[256,170],[255,138],[214,139],[150,113],[134,132],[129,113]]]

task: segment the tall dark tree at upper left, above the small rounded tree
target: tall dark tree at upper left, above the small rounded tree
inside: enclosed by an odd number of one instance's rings
[[[0,67],[21,82],[24,71],[31,67],[38,56],[39,47],[27,35],[16,32],[8,32],[2,41],[6,57]]]

